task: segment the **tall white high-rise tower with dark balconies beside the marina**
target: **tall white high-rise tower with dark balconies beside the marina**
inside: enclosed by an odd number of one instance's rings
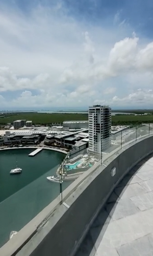
[[[99,155],[111,145],[111,108],[89,107],[89,154]]]

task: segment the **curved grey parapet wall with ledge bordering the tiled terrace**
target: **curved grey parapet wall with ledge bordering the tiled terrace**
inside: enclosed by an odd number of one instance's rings
[[[58,204],[57,199],[51,203],[54,211],[41,223],[40,228],[38,224],[46,209],[4,245],[0,249],[0,255],[74,255],[115,186],[131,168],[152,152],[153,136],[145,137],[118,151],[105,162],[106,166],[97,164],[93,166],[96,167],[94,172],[93,167],[90,168],[64,190],[62,205]],[[26,243],[27,233],[29,241]]]

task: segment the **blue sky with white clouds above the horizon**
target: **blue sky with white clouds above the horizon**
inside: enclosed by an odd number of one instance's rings
[[[152,0],[0,0],[0,109],[153,109]]]

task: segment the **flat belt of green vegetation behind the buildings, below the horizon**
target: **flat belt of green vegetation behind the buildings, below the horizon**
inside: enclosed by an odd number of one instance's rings
[[[147,111],[146,111],[147,112]],[[0,126],[12,123],[17,119],[32,120],[33,124],[49,125],[51,123],[62,123],[69,120],[88,120],[88,114],[44,114],[44,113],[6,113],[0,117]],[[112,116],[112,125],[137,125],[141,123],[152,123],[153,115],[134,116],[116,115]]]

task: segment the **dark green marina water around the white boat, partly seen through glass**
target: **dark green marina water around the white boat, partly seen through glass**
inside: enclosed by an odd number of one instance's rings
[[[65,155],[43,150],[29,157],[32,151],[30,148],[0,151],[0,247],[9,240],[12,230],[19,231],[60,193],[60,185],[46,177],[56,174]],[[22,173],[10,175],[16,160]],[[63,182],[63,189],[71,182]]]

